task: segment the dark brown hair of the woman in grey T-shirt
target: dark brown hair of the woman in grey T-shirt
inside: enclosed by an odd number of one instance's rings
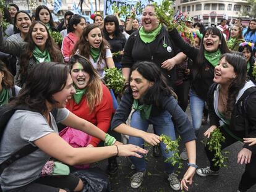
[[[36,112],[48,111],[46,101],[57,104],[54,93],[63,90],[69,75],[69,66],[58,62],[43,62],[29,73],[19,96],[11,101],[12,106],[25,104]]]

